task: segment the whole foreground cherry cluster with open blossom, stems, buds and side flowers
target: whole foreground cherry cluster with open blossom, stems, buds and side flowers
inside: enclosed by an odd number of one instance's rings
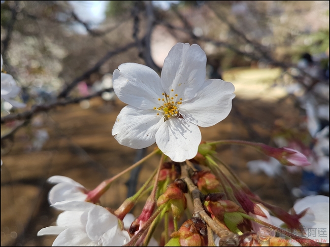
[[[327,202],[323,197],[316,198],[314,203],[305,198],[288,214],[253,194],[229,166],[216,158],[215,145],[250,146],[271,157],[277,166],[310,163],[305,155],[286,147],[241,140],[201,142],[199,126],[209,127],[226,118],[235,97],[232,83],[205,80],[205,66],[206,55],[200,46],[178,43],[165,59],[160,77],[151,68],[136,63],[124,63],[115,70],[114,91],[128,105],[118,115],[112,134],[120,144],[131,148],[156,143],[162,153],[159,166],[116,210],[101,206],[100,197],[115,179],[159,153],[158,149],[91,191],[66,177],[49,178],[49,183],[56,184],[49,192],[49,202],[63,212],[56,226],[41,229],[39,236],[58,235],[53,246],[149,246],[158,245],[152,235],[164,223],[161,246],[251,246],[256,237],[266,236],[270,229],[304,243],[305,236],[289,235],[273,222],[283,221],[295,230],[303,225],[312,227],[308,220],[314,217],[320,221],[317,210],[328,212],[328,198]],[[129,211],[149,189],[152,192],[135,218]],[[194,213],[189,218],[186,208],[190,199]],[[277,218],[271,218],[270,212]],[[179,227],[181,218],[185,221]],[[328,221],[323,223],[324,227],[328,225]],[[215,242],[213,233],[217,236]],[[279,238],[274,237],[272,244],[277,241]]]

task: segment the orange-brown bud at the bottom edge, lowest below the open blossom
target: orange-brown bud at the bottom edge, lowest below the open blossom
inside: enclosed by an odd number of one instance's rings
[[[207,228],[205,222],[198,217],[185,221],[179,231],[172,233],[172,237],[179,237],[181,246],[207,246]]]

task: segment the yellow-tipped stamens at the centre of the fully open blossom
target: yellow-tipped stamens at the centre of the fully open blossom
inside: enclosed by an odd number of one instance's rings
[[[162,101],[160,107],[154,107],[153,110],[157,111],[157,115],[162,115],[165,120],[169,120],[173,117],[179,117],[179,108],[180,104],[182,104],[182,98],[178,100],[178,94],[172,95],[173,89],[171,90],[171,94],[167,95],[166,93],[162,93],[163,97],[158,98],[158,101]]]

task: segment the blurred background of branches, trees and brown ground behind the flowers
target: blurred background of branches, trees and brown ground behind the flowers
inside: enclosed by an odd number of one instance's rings
[[[124,62],[160,73],[178,42],[199,44],[207,78],[236,88],[232,112],[201,128],[203,140],[287,146],[312,163],[292,169],[249,148],[219,146],[251,191],[285,210],[298,198],[328,195],[328,1],[1,1],[3,69],[26,103],[1,101],[2,246],[52,244],[55,236],[37,237],[59,214],[47,201],[52,175],[93,189],[156,147],[133,150],[111,135],[125,106],[112,73]],[[158,159],[123,175],[102,205],[116,209]]]

